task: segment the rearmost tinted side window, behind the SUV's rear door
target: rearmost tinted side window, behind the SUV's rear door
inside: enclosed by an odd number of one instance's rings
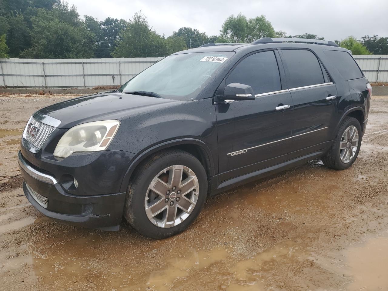
[[[345,80],[353,80],[363,77],[356,61],[348,52],[341,52],[339,50],[324,50],[324,53]]]

